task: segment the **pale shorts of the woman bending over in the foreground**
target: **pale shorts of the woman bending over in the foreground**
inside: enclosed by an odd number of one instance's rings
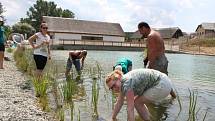
[[[166,74],[160,77],[158,85],[148,89],[143,96],[152,102],[161,102],[172,90],[172,82]]]

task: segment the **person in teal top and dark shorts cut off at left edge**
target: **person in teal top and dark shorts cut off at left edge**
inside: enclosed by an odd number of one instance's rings
[[[3,17],[0,16],[0,69],[4,69],[4,51],[5,51],[5,29],[4,29],[4,20]]]

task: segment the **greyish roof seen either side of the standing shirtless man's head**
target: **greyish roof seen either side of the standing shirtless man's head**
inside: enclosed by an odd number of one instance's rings
[[[172,28],[155,28],[155,31],[159,32],[161,37],[164,39],[168,38],[177,38],[177,36],[183,36],[183,32],[178,27],[172,27]],[[178,35],[176,35],[178,34]],[[139,33],[139,31],[134,32],[131,38],[141,38],[142,35]]]

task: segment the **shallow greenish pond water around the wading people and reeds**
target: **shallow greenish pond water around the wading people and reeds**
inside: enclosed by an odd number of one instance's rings
[[[133,61],[133,69],[143,68],[141,52],[121,52],[121,51],[88,51],[85,61],[85,68],[95,67],[97,61],[101,66],[105,77],[111,72],[112,66],[121,57],[128,57]],[[59,68],[64,71],[68,51],[53,51],[54,60],[61,63]],[[169,77],[172,79],[175,88],[178,91],[182,103],[182,112],[178,120],[184,121],[188,118],[189,110],[189,89],[198,92],[197,109],[199,109],[197,118],[201,121],[207,111],[206,121],[214,121],[215,115],[215,57],[203,55],[187,55],[187,54],[166,54],[169,60]],[[83,99],[76,101],[76,109],[80,110],[81,121],[92,121],[92,104],[91,104],[91,87],[92,79],[87,75],[83,76],[83,90],[86,91],[86,96]],[[99,82],[99,101],[98,113],[100,120],[110,119],[112,112],[112,95],[105,90],[104,78]],[[179,103],[174,100],[171,104],[162,104],[159,106],[149,106],[150,112],[154,120],[173,121],[179,113]],[[76,111],[77,112],[77,111]],[[67,115],[67,114],[66,114]],[[69,115],[69,114],[68,114]],[[76,114],[77,115],[77,114]],[[140,121],[136,115],[136,120]],[[127,118],[126,106],[124,105],[121,112],[118,114],[119,121],[125,121]],[[69,120],[69,116],[66,116]]]

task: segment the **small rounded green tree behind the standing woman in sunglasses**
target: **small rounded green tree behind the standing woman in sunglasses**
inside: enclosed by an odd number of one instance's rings
[[[35,29],[28,23],[17,23],[12,26],[12,31],[23,35],[27,34],[27,37],[35,33]]]

